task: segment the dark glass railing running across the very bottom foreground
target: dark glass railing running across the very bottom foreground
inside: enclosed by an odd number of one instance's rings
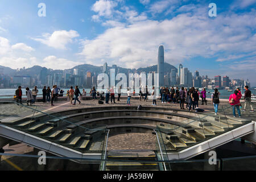
[[[30,154],[1,154],[0,171],[97,171],[106,162],[110,170],[160,170],[163,163],[170,163],[172,171],[255,171],[256,156],[217,158],[214,164],[208,159],[197,160],[116,160],[80,159],[46,155],[44,158]]]

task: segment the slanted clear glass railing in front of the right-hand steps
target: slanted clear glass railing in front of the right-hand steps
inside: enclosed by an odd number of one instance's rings
[[[255,105],[254,105],[255,106]],[[250,117],[233,117],[233,106],[219,106],[217,114],[193,113],[189,119],[173,119],[156,126],[167,152],[177,152],[251,122]],[[237,115],[238,116],[238,115]],[[172,117],[170,117],[172,119]]]

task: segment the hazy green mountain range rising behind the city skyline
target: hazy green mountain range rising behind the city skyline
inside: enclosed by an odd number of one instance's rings
[[[40,67],[39,65],[35,65],[34,67],[31,68],[27,68],[27,69],[20,69],[19,71],[16,71],[16,69],[11,69],[9,67],[3,67],[0,65],[0,69],[2,68],[3,73],[5,75],[9,75],[9,76],[14,76],[14,75],[24,75],[24,76],[33,76],[33,77],[38,77],[40,74],[40,71],[42,70],[42,68],[44,67]],[[81,71],[83,71],[84,73],[86,73],[87,71],[90,72],[96,72],[96,73],[101,73],[102,72],[102,66],[98,67],[98,66],[94,66],[91,64],[81,64],[81,65],[77,65],[76,67],[73,67],[71,69],[75,69],[78,68]],[[111,68],[111,67],[108,67]],[[174,67],[171,64],[168,63],[164,63],[164,73],[170,73],[171,69],[176,69],[176,67]],[[68,69],[68,70],[71,70]],[[152,65],[151,67],[146,67],[146,68],[138,68],[138,69],[129,69],[129,68],[122,68],[122,67],[117,67],[117,69],[119,69],[120,73],[133,73],[133,72],[137,72],[137,73],[141,73],[141,72],[157,72],[158,69],[158,65]],[[53,70],[53,69],[47,69],[48,72],[62,72],[61,70]]]

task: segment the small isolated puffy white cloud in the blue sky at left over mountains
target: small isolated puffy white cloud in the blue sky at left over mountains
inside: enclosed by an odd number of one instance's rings
[[[73,42],[73,38],[80,36],[75,30],[59,30],[52,34],[43,34],[42,38],[32,38],[40,43],[56,49],[67,49],[67,44]]]

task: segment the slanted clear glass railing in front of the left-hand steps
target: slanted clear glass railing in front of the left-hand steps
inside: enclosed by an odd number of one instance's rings
[[[88,115],[77,110],[63,115],[42,106],[27,106],[26,102],[10,101],[0,106],[10,110],[6,118],[1,118],[3,125],[82,153],[102,153],[107,126],[91,124]]]

